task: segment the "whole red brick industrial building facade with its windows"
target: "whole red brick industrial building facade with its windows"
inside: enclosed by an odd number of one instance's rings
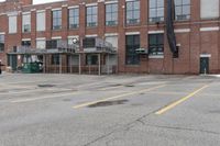
[[[35,56],[46,72],[219,74],[219,0],[7,0],[0,3],[0,59],[15,69]],[[43,52],[58,44],[65,50]],[[24,57],[19,48],[42,52]]]

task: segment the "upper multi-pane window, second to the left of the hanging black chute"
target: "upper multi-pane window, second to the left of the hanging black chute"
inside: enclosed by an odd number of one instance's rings
[[[127,24],[135,25],[140,23],[140,1],[127,2]]]

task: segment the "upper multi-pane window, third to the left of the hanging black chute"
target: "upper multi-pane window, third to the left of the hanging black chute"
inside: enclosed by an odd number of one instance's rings
[[[106,25],[118,24],[118,3],[106,4]]]

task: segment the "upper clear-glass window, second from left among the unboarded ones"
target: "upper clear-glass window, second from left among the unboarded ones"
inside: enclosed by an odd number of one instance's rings
[[[79,27],[79,9],[69,9],[69,29]]]

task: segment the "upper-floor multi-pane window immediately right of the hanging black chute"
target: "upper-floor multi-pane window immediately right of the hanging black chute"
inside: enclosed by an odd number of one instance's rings
[[[190,19],[190,0],[175,0],[175,20]]]

